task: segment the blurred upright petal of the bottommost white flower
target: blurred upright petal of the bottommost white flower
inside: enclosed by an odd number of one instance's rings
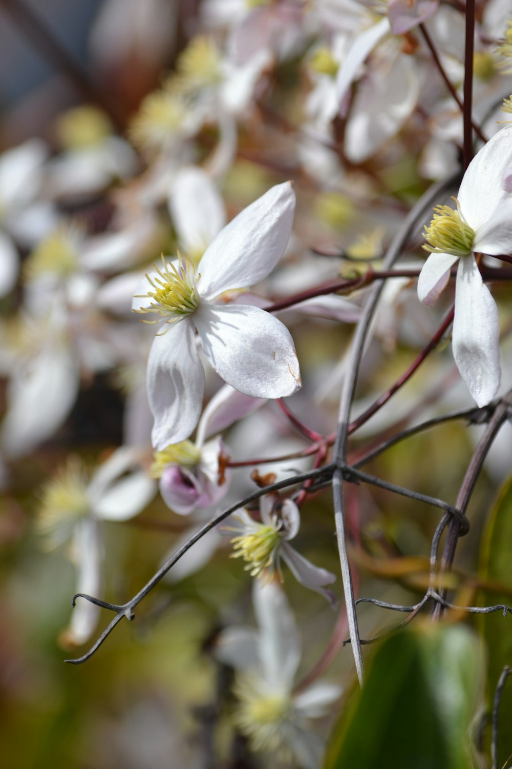
[[[289,690],[299,665],[300,641],[286,595],[276,582],[262,584],[256,579],[253,602],[266,681]]]

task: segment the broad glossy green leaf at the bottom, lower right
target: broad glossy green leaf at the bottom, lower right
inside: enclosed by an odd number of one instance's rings
[[[481,651],[459,625],[417,625],[388,638],[343,714],[325,769],[471,769]]]

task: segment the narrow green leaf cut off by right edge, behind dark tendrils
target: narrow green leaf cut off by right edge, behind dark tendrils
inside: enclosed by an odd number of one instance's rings
[[[508,479],[491,508],[480,551],[480,576],[487,583],[496,582],[512,591],[512,477]],[[510,593],[484,591],[483,606],[512,605]],[[512,665],[512,616],[500,611],[481,618],[481,630],[487,644],[487,695],[492,710],[494,692],[504,665]],[[510,766],[512,755],[512,681],[505,684],[500,704],[500,728],[497,741],[498,767]]]

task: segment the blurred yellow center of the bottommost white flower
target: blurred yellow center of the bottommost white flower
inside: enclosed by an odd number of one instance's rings
[[[239,730],[249,737],[253,750],[282,749],[291,725],[289,694],[269,691],[268,684],[265,685],[254,675],[240,675],[234,691],[239,700],[235,722]]]

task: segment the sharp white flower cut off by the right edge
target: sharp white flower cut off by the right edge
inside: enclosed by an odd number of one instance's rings
[[[424,245],[431,252],[418,280],[418,297],[438,300],[450,268],[459,260],[455,286],[453,351],[474,400],[484,406],[500,385],[500,326],[491,291],[484,285],[475,253],[512,251],[512,195],[507,168],[512,162],[512,129],[503,128],[473,158],[456,199],[457,208],[438,205]]]

